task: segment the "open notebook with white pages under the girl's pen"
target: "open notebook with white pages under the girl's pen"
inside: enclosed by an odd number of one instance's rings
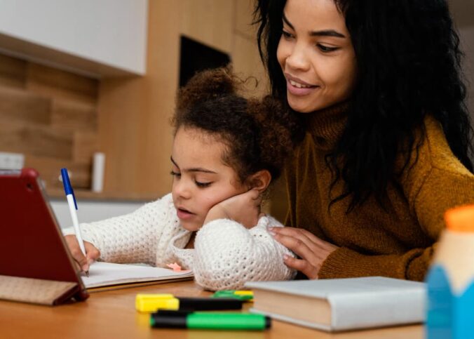
[[[112,264],[110,262],[94,262],[93,265],[90,265],[89,277],[84,274],[81,276],[86,288],[155,281],[180,281],[189,280],[192,277],[193,272],[190,270],[174,272],[161,267]]]

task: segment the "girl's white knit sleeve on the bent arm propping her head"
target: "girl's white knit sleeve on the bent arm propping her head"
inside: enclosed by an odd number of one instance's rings
[[[287,280],[294,270],[283,262],[283,255],[294,254],[273,240],[266,226],[282,227],[269,217],[260,218],[248,230],[228,219],[205,224],[196,234],[194,277],[206,289],[242,288],[247,281]]]

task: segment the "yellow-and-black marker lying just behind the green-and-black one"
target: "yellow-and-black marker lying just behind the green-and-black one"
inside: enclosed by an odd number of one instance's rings
[[[140,312],[242,310],[242,303],[236,298],[177,298],[172,294],[139,293],[135,297],[135,308]]]

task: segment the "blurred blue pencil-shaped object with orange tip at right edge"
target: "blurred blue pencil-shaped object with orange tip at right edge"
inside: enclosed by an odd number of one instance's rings
[[[428,272],[426,338],[474,338],[474,205],[445,213]]]

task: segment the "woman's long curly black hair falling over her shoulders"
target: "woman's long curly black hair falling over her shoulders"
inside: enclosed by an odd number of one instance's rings
[[[287,102],[276,51],[285,0],[258,0],[257,43],[269,73],[272,95]],[[449,147],[473,171],[472,127],[461,78],[459,36],[445,0],[334,0],[344,15],[358,67],[345,131],[326,158],[334,183],[344,180],[348,211],[386,188],[411,168],[424,135],[424,117],[437,119]],[[412,154],[415,152],[414,154]],[[395,167],[400,154],[403,168]],[[400,170],[400,171],[399,171]],[[383,205],[383,204],[382,204]]]

